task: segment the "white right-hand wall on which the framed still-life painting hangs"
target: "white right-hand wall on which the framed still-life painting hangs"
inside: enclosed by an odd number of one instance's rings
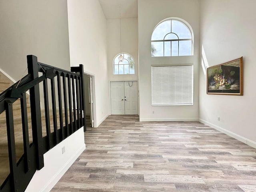
[[[243,56],[244,96],[207,95],[206,75],[201,66],[199,80],[199,118],[225,129],[226,133],[232,132],[254,142],[255,7],[255,0],[201,0],[200,47],[204,47],[208,65],[213,66]],[[220,117],[220,121],[217,117]]]

